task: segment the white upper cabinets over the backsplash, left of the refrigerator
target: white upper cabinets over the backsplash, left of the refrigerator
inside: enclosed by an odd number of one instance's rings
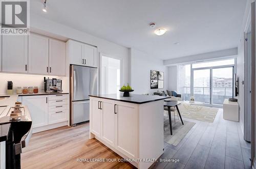
[[[33,33],[29,36],[5,35],[0,61],[3,72],[65,76],[66,43]]]

